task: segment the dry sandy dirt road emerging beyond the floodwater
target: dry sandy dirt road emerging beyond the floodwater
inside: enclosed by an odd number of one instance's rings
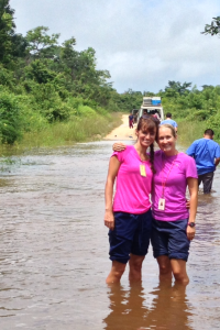
[[[122,116],[122,121],[123,123],[114,129],[113,131],[111,131],[111,133],[109,133],[105,140],[135,140],[135,127],[136,124],[134,124],[133,129],[129,128],[129,114],[123,114]]]

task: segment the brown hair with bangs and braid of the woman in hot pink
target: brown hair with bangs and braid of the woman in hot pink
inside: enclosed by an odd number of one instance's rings
[[[141,117],[136,127],[136,131],[148,131],[150,133],[154,133],[154,130],[156,129],[156,135],[155,140],[157,141],[157,135],[158,135],[158,124],[160,121],[154,118],[148,116],[147,118]],[[154,168],[154,143],[150,145],[150,162],[151,162],[151,169],[153,173],[156,173]]]

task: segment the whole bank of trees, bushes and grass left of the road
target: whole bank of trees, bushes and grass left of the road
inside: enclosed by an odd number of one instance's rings
[[[0,0],[1,151],[108,133],[120,107],[110,74],[96,68],[95,50],[77,52],[74,37],[59,45],[59,34],[45,26],[16,34],[13,15],[9,0]]]

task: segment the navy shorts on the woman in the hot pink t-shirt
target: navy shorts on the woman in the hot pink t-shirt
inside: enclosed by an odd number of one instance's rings
[[[152,212],[114,212],[114,229],[109,230],[110,260],[127,264],[130,253],[146,255],[152,230]]]

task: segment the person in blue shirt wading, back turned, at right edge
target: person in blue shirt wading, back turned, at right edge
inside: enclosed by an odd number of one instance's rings
[[[196,161],[198,185],[204,184],[204,194],[211,193],[213,173],[220,162],[220,145],[213,141],[213,131],[206,130],[204,138],[194,141],[186,153]]]

